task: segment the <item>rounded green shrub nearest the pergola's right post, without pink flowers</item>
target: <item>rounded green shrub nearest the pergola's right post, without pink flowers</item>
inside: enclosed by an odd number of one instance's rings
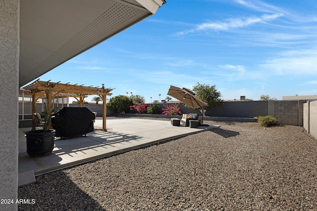
[[[107,103],[107,107],[111,109],[113,112],[118,113],[126,113],[130,110],[130,106],[133,105],[133,101],[131,98],[118,95],[115,97],[111,97],[109,102]]]

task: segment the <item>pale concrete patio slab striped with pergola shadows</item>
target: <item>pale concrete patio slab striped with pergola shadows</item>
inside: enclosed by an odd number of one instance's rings
[[[107,120],[106,124],[107,131],[95,129],[86,136],[55,138],[53,153],[43,157],[27,154],[23,131],[31,128],[19,128],[19,186],[34,182],[34,176],[40,174],[219,127],[175,127],[169,121],[130,118]],[[103,120],[96,120],[94,126],[102,127]]]

